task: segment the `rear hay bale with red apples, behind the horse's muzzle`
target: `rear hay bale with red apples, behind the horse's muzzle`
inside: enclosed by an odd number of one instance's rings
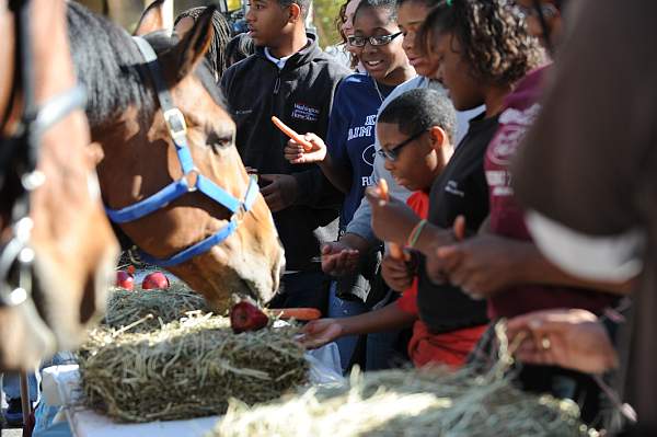
[[[182,283],[173,283],[165,290],[136,288],[134,291],[128,291],[123,288],[112,288],[103,323],[119,329],[143,320],[130,331],[148,332],[180,320],[188,311],[196,310],[204,313],[211,311],[203,296]],[[152,314],[153,318],[145,320],[148,314]]]

